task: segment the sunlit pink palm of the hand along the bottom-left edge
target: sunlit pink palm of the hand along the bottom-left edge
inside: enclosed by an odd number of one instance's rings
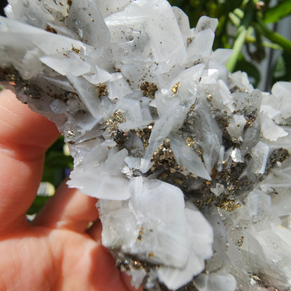
[[[86,234],[35,227],[2,241],[0,253],[0,290],[129,290],[111,254]]]

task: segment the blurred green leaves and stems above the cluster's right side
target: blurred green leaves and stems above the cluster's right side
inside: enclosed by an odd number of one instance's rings
[[[291,0],[278,1],[273,7],[269,5],[269,0],[169,0],[169,3],[187,13],[191,27],[195,27],[202,15],[218,18],[213,50],[234,50],[227,63],[229,71],[246,71],[253,85],[257,86],[261,79],[257,65],[265,58],[266,48],[273,48],[283,50],[283,54],[271,72],[271,83],[276,80],[291,80],[291,41],[267,26],[291,15]],[[242,55],[243,48],[246,53]]]

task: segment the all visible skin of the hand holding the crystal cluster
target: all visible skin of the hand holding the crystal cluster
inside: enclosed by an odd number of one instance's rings
[[[0,92],[0,290],[136,290],[101,245],[97,199],[64,183],[27,221],[45,151],[58,136],[52,122]]]

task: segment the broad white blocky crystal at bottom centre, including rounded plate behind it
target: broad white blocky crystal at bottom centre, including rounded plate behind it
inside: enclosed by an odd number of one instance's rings
[[[155,264],[159,281],[176,290],[204,270],[213,254],[213,229],[192,204],[185,207],[176,186],[136,177],[129,192],[128,200],[99,200],[102,242]]]

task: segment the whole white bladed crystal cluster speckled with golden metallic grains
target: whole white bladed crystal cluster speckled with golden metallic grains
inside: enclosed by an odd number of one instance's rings
[[[132,284],[290,290],[290,83],[254,90],[218,21],[166,0],[8,2],[1,76],[64,134]]]

